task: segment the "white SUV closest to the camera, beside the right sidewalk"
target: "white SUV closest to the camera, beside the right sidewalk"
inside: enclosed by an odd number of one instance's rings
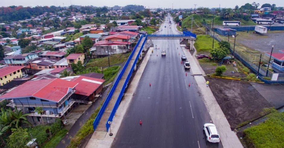
[[[207,141],[212,142],[212,143],[220,142],[220,136],[214,124],[205,123],[203,126],[203,130],[205,132]]]

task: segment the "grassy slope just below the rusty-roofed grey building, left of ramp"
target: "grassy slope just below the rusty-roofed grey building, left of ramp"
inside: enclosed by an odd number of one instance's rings
[[[114,65],[114,64],[118,64],[118,63],[122,63],[125,62],[129,55],[131,53],[126,53],[126,54],[113,54],[109,56],[109,63],[110,65]],[[102,58],[95,58],[95,59],[91,59],[87,65],[86,68],[88,67],[103,67],[103,66],[108,66],[108,57],[102,57]]]

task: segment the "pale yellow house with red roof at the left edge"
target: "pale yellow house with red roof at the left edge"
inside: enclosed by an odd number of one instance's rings
[[[0,86],[11,82],[13,79],[21,78],[23,76],[22,69],[25,66],[1,66],[0,67]]]

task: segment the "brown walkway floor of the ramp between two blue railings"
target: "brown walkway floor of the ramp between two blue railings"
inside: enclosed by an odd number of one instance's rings
[[[137,49],[140,49],[141,46],[143,45],[144,40],[146,39],[146,37],[142,37],[141,41],[139,42]],[[108,117],[111,114],[112,109],[114,108],[115,102],[120,94],[120,91],[124,85],[124,82],[127,78],[128,73],[131,70],[132,65],[134,64],[135,58],[137,57],[139,53],[139,50],[135,50],[131,60],[129,61],[120,81],[118,82],[115,91],[112,94],[112,97],[107,105],[107,107],[105,108],[104,113],[102,114],[102,117],[100,119],[100,121],[98,122],[97,127],[95,128],[95,132],[107,132],[106,130],[106,122],[108,121]],[[121,67],[122,68],[122,67]],[[123,72],[123,70],[121,70],[121,72]],[[111,92],[110,92],[111,93]]]

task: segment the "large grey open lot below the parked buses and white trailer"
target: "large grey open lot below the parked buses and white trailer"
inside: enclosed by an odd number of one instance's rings
[[[249,48],[261,52],[270,52],[272,45],[274,45],[273,52],[283,50],[284,31],[270,31],[267,34],[260,35],[253,33],[253,31],[237,32],[236,42],[243,44]]]

